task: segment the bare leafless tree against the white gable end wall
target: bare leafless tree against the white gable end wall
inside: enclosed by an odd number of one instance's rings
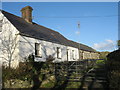
[[[8,63],[8,67],[11,67],[11,62],[14,60],[13,55],[15,53],[18,41],[18,35],[11,29],[11,25],[8,21],[0,20],[0,51],[2,60]]]

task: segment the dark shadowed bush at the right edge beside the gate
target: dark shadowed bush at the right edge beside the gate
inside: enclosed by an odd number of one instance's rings
[[[107,56],[109,87],[120,90],[120,50]]]

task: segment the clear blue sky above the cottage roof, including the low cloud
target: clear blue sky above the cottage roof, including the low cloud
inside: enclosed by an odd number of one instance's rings
[[[21,17],[21,8],[28,5],[33,8],[34,22],[69,40],[97,51],[117,49],[117,2],[3,2],[2,9]]]

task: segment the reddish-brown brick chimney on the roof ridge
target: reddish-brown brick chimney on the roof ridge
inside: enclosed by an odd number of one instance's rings
[[[22,18],[25,19],[28,23],[32,24],[32,7],[26,6],[21,9]]]

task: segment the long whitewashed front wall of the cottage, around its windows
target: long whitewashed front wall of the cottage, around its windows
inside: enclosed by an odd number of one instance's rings
[[[51,55],[53,58],[55,58],[55,62],[62,62],[62,61],[67,61],[67,49],[69,50],[68,53],[68,61],[75,61],[78,60],[79,54],[78,54],[78,49],[61,45],[61,44],[56,44],[44,40],[38,40],[26,36],[20,36],[20,41],[19,41],[19,50],[20,50],[20,57],[22,61],[24,61],[24,58],[28,57],[30,54],[35,55],[35,43],[40,43],[42,46],[42,58],[40,57],[35,57],[35,61],[46,61],[46,58]],[[57,58],[57,47],[61,48],[61,59]],[[75,59],[72,58],[72,50],[75,51]]]

